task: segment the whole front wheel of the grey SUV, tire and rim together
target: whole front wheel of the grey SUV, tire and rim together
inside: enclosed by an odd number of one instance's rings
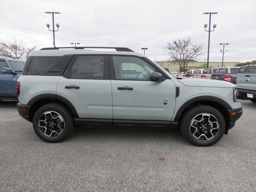
[[[206,122],[207,118],[208,122]],[[215,108],[207,105],[190,108],[183,115],[181,121],[182,135],[188,142],[196,146],[215,144],[222,138],[225,128],[226,123],[222,114]]]

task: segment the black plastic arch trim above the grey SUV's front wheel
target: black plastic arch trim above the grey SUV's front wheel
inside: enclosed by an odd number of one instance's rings
[[[190,106],[193,103],[196,102],[200,102],[200,101],[212,101],[212,102],[217,102],[219,104],[221,104],[222,106],[224,106],[227,110],[232,109],[231,106],[224,100],[218,98],[218,97],[214,97],[214,96],[198,96],[196,98],[192,98],[190,100],[188,100],[187,102],[185,102],[177,111],[175,118],[174,118],[174,122],[178,122],[180,120],[180,117],[182,115],[182,113],[184,112],[184,110]]]

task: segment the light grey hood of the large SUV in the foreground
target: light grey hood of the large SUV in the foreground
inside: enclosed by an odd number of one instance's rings
[[[224,88],[235,88],[236,85],[220,80],[211,79],[198,79],[198,78],[179,78],[179,82],[186,86],[198,86],[198,87],[224,87]]]

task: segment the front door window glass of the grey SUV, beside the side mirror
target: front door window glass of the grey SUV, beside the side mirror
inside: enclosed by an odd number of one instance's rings
[[[144,60],[132,56],[113,56],[116,79],[150,80],[156,70]]]

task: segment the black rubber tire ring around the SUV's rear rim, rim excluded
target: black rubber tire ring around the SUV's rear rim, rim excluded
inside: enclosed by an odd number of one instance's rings
[[[64,123],[65,123],[64,130],[63,130],[62,134],[60,134],[57,137],[54,137],[54,138],[47,137],[42,133],[42,131],[39,130],[39,127],[38,127],[39,117],[46,111],[57,112],[64,119]],[[46,105],[42,106],[41,108],[39,108],[33,117],[34,131],[36,132],[38,137],[40,137],[42,140],[44,140],[46,142],[60,142],[64,139],[66,139],[72,132],[73,127],[74,127],[74,118],[73,118],[71,112],[68,110],[68,108],[66,108],[65,106],[63,106],[61,104],[46,104]]]

